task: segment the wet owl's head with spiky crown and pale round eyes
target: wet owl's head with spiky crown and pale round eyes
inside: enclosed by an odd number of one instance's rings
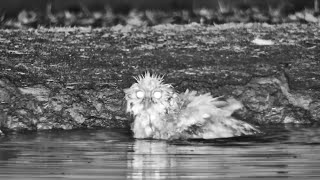
[[[169,99],[174,94],[170,84],[163,83],[163,77],[146,72],[135,77],[137,81],[130,88],[125,89],[127,112],[133,115],[152,110],[164,113],[169,108]]]

